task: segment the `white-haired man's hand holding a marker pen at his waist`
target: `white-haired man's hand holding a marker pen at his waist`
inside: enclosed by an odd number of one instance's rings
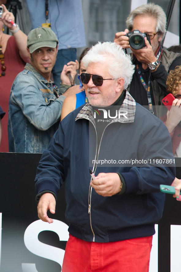
[[[116,173],[99,173],[90,183],[96,193],[103,197],[111,197],[121,191],[121,180]]]

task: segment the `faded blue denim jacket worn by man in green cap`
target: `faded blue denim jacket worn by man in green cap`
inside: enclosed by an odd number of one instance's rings
[[[27,63],[17,75],[9,97],[9,152],[42,153],[58,129],[65,96],[58,97],[34,67]]]

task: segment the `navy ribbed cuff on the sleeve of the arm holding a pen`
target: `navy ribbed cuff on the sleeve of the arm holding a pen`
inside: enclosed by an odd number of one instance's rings
[[[125,193],[137,193],[139,191],[139,180],[136,172],[130,171],[121,173],[121,175],[125,180]]]

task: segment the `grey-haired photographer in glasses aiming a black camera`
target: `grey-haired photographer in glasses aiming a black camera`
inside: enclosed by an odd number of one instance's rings
[[[149,3],[132,10],[126,25],[128,29],[116,33],[114,42],[133,52],[136,67],[128,91],[136,102],[149,106],[150,112],[156,111],[156,116],[161,117],[166,112],[158,105],[163,105],[162,98],[167,94],[168,73],[181,65],[180,54],[160,45],[166,33],[166,15],[160,6]]]

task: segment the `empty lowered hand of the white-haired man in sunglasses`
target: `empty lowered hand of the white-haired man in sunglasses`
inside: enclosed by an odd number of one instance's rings
[[[53,219],[47,216],[47,210],[50,210],[51,213],[55,213],[55,206],[55,197],[51,193],[44,193],[40,197],[40,201],[38,203],[38,217],[49,224],[53,223]]]

